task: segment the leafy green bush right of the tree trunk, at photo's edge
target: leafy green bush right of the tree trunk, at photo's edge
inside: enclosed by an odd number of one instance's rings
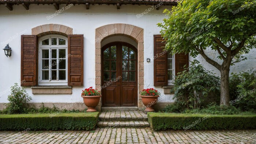
[[[235,78],[234,78],[235,77]],[[256,70],[240,72],[239,75],[231,76],[231,84],[234,81],[239,81],[234,92],[233,99],[230,99],[230,104],[241,108],[244,111],[256,111]]]

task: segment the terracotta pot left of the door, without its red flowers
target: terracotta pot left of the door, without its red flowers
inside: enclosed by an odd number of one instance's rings
[[[101,96],[81,96],[84,104],[88,107],[87,112],[96,112],[95,107],[98,105]]]

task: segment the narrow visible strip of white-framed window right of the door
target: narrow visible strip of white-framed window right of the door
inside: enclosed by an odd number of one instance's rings
[[[173,80],[175,77],[175,63],[174,63],[174,55],[167,53],[167,73],[168,73],[168,85],[173,85]]]

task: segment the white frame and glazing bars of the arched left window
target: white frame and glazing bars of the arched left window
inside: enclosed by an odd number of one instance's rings
[[[51,45],[52,41],[51,38],[60,38],[64,39],[66,41],[65,45],[59,45],[58,39],[57,39],[57,45]],[[42,45],[42,41],[49,39],[49,45]],[[61,36],[61,35],[46,35],[39,38],[38,43],[38,85],[46,85],[46,86],[56,86],[56,85],[68,85],[68,38]],[[42,80],[42,50],[43,49],[49,49],[49,80]],[[57,65],[57,80],[51,80],[51,70],[52,67],[50,65],[52,64],[51,55],[52,55],[52,49],[57,49],[57,63],[59,63],[59,49],[66,49],[65,53],[65,60],[66,60],[66,80],[58,80],[59,79],[59,73],[58,73],[58,65]]]

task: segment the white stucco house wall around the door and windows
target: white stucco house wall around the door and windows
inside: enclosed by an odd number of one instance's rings
[[[60,9],[65,5],[60,5]],[[31,88],[27,87],[27,93],[32,97],[33,103],[74,103],[83,102],[80,97],[84,88],[95,86],[95,44],[91,43],[95,39],[95,29],[107,24],[125,23],[136,25],[144,29],[144,61],[151,58],[150,63],[144,64],[144,88],[156,88],[165,97],[159,102],[173,102],[173,95],[164,95],[161,87],[154,87],[153,70],[153,35],[159,34],[160,28],[157,23],[165,18],[163,9],[170,6],[161,6],[159,10],[153,10],[146,15],[137,18],[136,15],[143,13],[151,6],[122,5],[117,9],[114,5],[91,5],[87,10],[85,5],[75,5],[52,19],[47,16],[53,15],[56,10],[53,5],[35,5],[32,4],[29,10],[25,10],[22,5],[14,5],[13,11],[9,11],[4,5],[0,5],[0,49],[5,45],[2,43],[10,39],[12,56],[6,57],[3,50],[0,52],[0,103],[7,103],[8,93],[6,90],[14,83],[20,83],[20,32],[24,35],[31,35],[31,28],[43,24],[62,24],[73,28],[74,34],[84,35],[84,86],[73,87],[72,95],[33,95]],[[240,63],[239,66],[231,67],[231,71],[237,72],[256,67],[256,55],[248,54],[249,58]],[[216,57],[210,54],[212,58]],[[192,59],[190,57],[190,59]],[[206,66],[207,69],[214,69],[210,64],[204,61],[200,56],[197,57]],[[1,93],[2,92],[2,93]]]

